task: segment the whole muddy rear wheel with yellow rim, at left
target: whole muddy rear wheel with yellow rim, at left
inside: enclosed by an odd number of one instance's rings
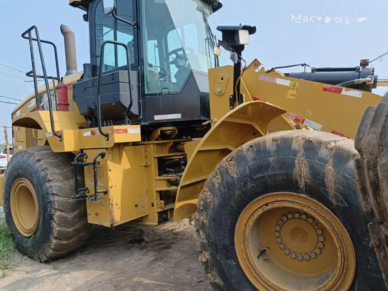
[[[73,159],[49,146],[32,147],[17,152],[5,172],[5,220],[17,248],[38,262],[69,254],[89,236],[86,202],[71,198]]]

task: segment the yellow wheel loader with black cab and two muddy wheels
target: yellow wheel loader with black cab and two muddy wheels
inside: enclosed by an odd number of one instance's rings
[[[294,73],[247,63],[256,28],[217,27],[218,0],[69,4],[89,23],[82,72],[68,26],[63,77],[55,44],[36,26],[22,34],[35,90],[12,111],[0,179],[21,253],[46,262],[92,225],[189,219],[215,290],[386,290],[354,167],[359,120],[381,99],[367,60]]]

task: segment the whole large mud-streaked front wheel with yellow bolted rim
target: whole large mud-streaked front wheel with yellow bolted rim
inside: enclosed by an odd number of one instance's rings
[[[386,290],[355,180],[357,156],[348,139],[293,130],[224,158],[196,213],[200,261],[214,289]]]

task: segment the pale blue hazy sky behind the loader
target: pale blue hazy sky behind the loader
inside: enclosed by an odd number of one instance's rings
[[[243,52],[248,63],[258,58],[267,68],[303,62],[314,67],[357,66],[360,59],[374,59],[388,51],[386,0],[221,2],[223,8],[215,14],[218,25],[242,23],[257,27],[251,44]],[[82,70],[83,63],[90,62],[88,24],[82,18],[85,12],[69,6],[68,0],[0,3],[0,96],[24,99],[33,91],[33,83],[26,82],[27,77],[23,76],[31,70],[31,58],[28,40],[21,38],[21,33],[32,25],[38,26],[42,39],[57,45],[61,74],[66,71],[61,24],[70,26],[76,35],[78,70]],[[300,14],[302,23],[292,23],[299,21]],[[47,72],[54,74],[52,48],[44,46],[43,52]],[[374,66],[379,76],[388,76],[388,59],[375,62]],[[301,70],[300,67],[283,72]],[[374,93],[382,95],[386,90],[387,87],[379,87]],[[0,101],[18,102],[3,97]],[[0,126],[11,125],[14,106],[0,103]]]

